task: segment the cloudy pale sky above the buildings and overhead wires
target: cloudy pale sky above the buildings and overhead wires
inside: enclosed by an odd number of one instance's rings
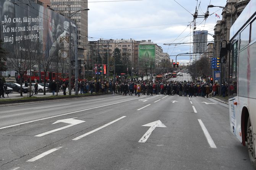
[[[169,55],[190,52],[190,44],[167,46],[164,43],[188,43],[190,35],[192,41],[193,35],[188,26],[193,21],[192,14],[199,6],[198,14],[204,15],[209,4],[225,6],[226,0],[88,0],[88,37],[92,37],[88,40],[151,40]],[[212,15],[206,20],[197,18],[196,30],[208,30],[208,33],[214,34],[214,25],[220,20],[215,13],[222,19],[221,8],[209,8]],[[208,41],[212,39],[208,35]],[[179,59],[185,63],[190,57]]]

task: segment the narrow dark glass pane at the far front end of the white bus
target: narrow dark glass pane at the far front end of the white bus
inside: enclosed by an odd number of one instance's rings
[[[233,43],[232,57],[230,58],[230,79],[229,79],[229,97],[237,95],[237,57],[238,57],[238,41]]]

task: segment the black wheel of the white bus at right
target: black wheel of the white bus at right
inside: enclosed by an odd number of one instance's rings
[[[256,159],[254,157],[255,149],[254,149],[253,128],[251,126],[250,117],[248,118],[248,123],[247,123],[247,147],[248,147],[251,164],[253,165],[254,168],[256,168]]]

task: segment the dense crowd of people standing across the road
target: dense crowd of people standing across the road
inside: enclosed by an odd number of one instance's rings
[[[58,85],[57,85],[58,84]],[[66,95],[68,89],[68,81],[61,81],[56,83],[55,81],[50,82],[50,90],[53,92],[58,90],[63,91]],[[72,88],[75,91],[75,84]],[[54,91],[52,89],[55,89]],[[219,90],[222,92],[222,96],[226,96],[227,86],[223,84],[222,88],[219,89],[219,84],[212,84],[209,81],[150,81],[150,80],[128,80],[118,79],[115,83],[110,80],[99,80],[99,81],[80,81],[78,82],[78,92],[80,94],[86,93],[111,93],[113,95],[153,95],[153,94],[166,94],[188,97],[211,97],[219,94]]]

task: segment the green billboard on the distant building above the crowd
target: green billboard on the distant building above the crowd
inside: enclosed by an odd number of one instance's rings
[[[139,65],[142,68],[155,68],[156,45],[139,44]]]

